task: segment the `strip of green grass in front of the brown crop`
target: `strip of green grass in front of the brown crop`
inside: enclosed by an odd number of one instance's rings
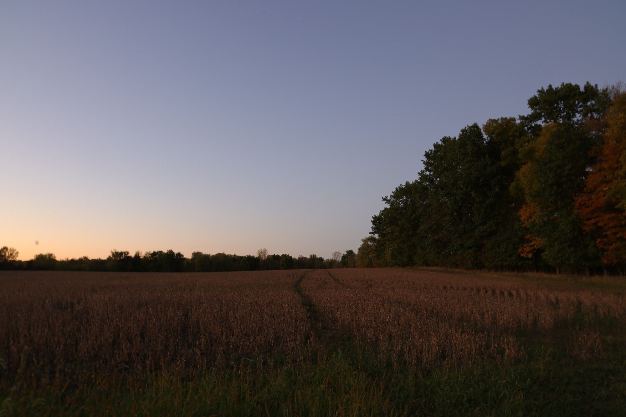
[[[155,373],[22,393],[4,385],[0,416],[620,415],[626,407],[623,355],[585,362],[542,348],[520,363],[419,371],[341,345],[319,361],[248,363],[192,381]]]

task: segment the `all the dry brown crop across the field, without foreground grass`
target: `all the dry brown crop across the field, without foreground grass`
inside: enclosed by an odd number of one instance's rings
[[[405,269],[1,272],[0,284],[0,378],[41,383],[160,368],[194,374],[274,355],[302,360],[318,346],[316,321],[414,366],[515,360],[529,340],[595,357],[607,332],[626,328],[621,295]]]

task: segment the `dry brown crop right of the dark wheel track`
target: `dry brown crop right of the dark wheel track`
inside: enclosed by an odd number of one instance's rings
[[[401,269],[316,270],[302,282],[324,320],[383,358],[419,366],[525,355],[520,335],[602,351],[602,323],[626,319],[623,296],[520,280]],[[578,315],[578,316],[577,316]],[[585,317],[587,322],[576,322]],[[582,328],[584,326],[585,328]]]

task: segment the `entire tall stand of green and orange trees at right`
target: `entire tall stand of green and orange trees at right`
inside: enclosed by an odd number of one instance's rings
[[[382,200],[357,265],[623,274],[626,95],[541,88],[525,116],[466,126]]]

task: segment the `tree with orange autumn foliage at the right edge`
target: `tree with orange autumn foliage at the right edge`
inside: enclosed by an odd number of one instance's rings
[[[596,237],[607,265],[626,263],[626,92],[616,89],[605,117],[598,162],[576,200],[585,231]]]

